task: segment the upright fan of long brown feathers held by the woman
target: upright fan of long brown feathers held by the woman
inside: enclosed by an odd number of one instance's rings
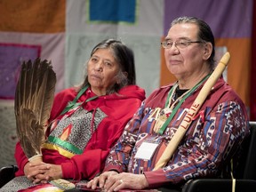
[[[17,136],[25,155],[41,155],[54,99],[56,74],[51,62],[37,58],[23,62],[16,87],[14,111]]]

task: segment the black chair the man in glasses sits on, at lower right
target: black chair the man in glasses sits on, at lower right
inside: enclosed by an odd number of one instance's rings
[[[242,153],[234,167],[236,192],[256,191],[256,122],[250,122],[251,134],[242,144]],[[227,192],[232,191],[231,179],[188,180],[182,192]]]

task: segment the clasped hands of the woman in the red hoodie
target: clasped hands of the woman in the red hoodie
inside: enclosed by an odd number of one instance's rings
[[[49,180],[62,178],[62,170],[60,165],[41,163],[28,163],[24,167],[25,175],[28,180],[33,183],[46,183]]]

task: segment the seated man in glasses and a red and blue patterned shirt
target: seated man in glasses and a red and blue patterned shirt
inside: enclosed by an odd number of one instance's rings
[[[244,103],[220,77],[170,160],[154,169],[214,68],[214,36],[204,20],[173,20],[162,45],[178,81],[143,102],[88,188],[179,188],[189,179],[217,177],[248,135]]]

